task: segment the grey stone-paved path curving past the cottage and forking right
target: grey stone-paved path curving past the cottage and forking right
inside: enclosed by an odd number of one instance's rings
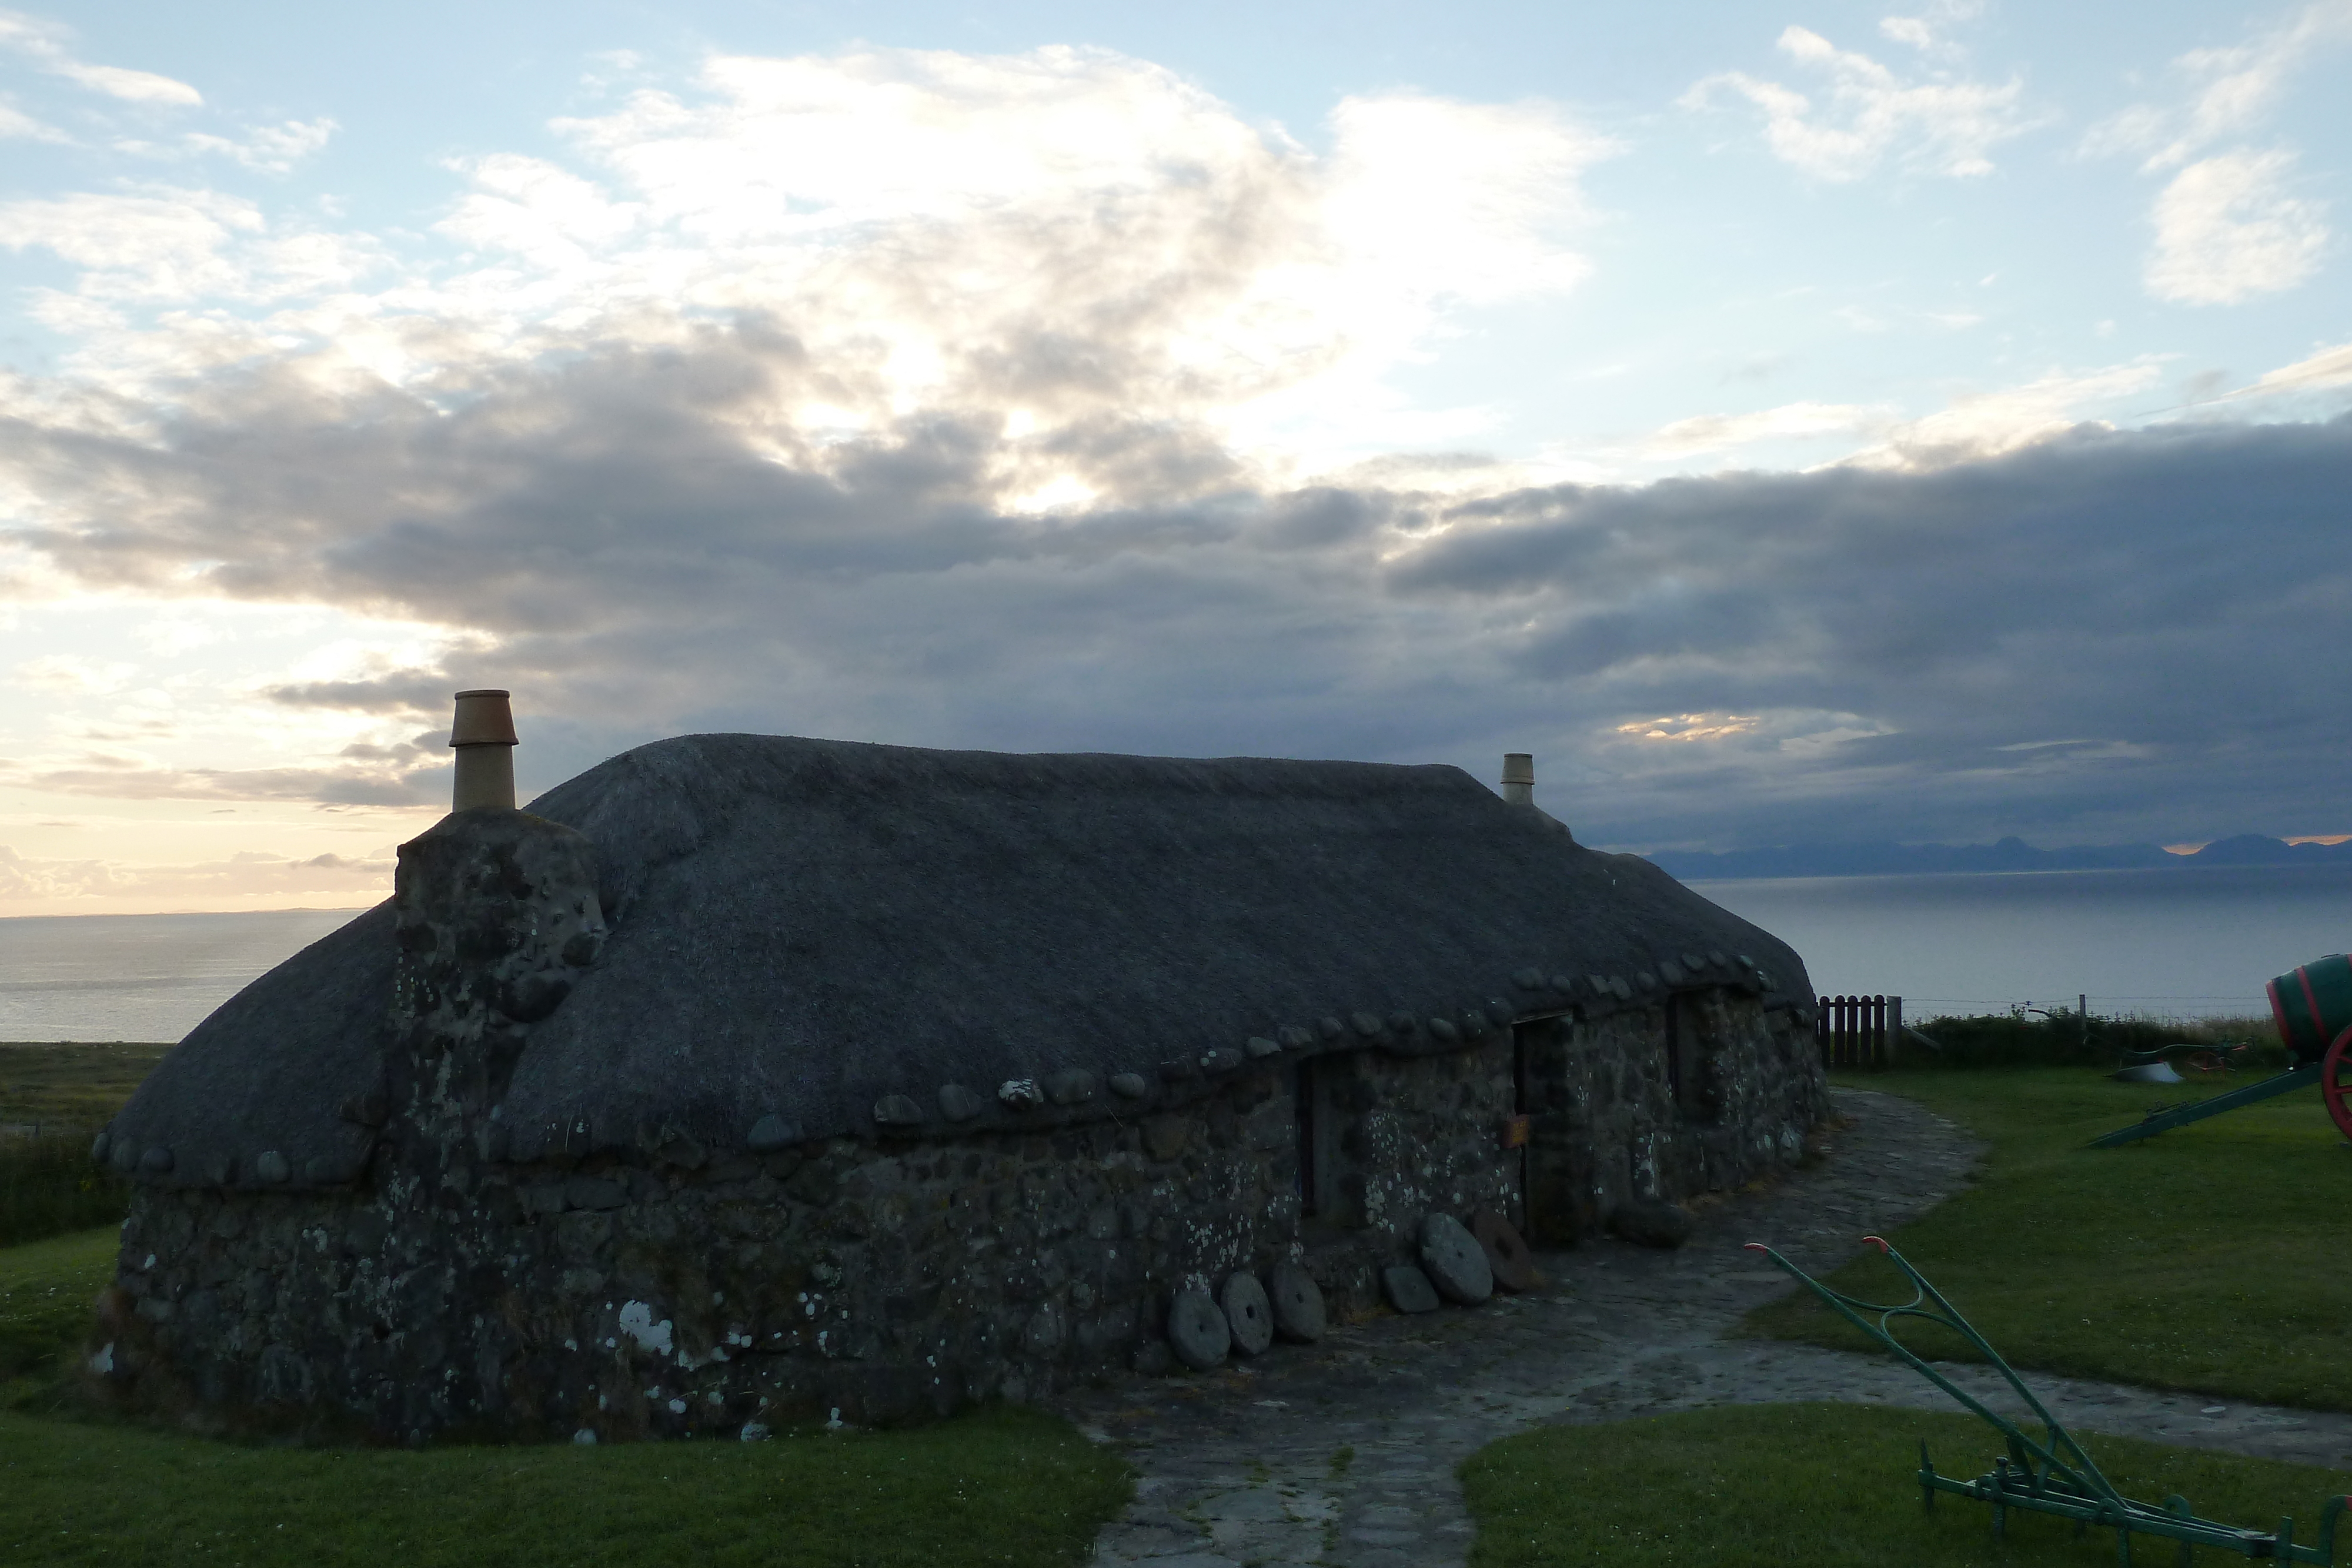
[[[1454,1467],[1538,1422],[1606,1422],[1712,1403],[1844,1399],[1955,1408],[1905,1366],[1809,1345],[1729,1340],[1795,1288],[1743,1241],[1835,1267],[1969,1180],[1980,1145],[1910,1100],[1835,1091],[1830,1159],[1700,1213],[1675,1253],[1613,1241],[1541,1260],[1548,1288],[1475,1312],[1381,1316],[1204,1378],[1131,1380],[1063,1401],[1138,1469],[1096,1568],[1437,1568],[1470,1549]],[[1985,1403],[1983,1368],[1945,1366]],[[2030,1375],[2084,1432],[2126,1432],[2352,1467],[2352,1415],[2216,1406]],[[2006,1394],[2006,1389],[2002,1389]]]

